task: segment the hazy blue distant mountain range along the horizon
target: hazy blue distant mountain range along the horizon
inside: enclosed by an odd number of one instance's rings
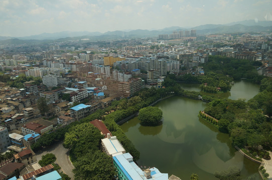
[[[158,36],[159,34],[170,34],[174,30],[185,30],[179,26],[166,27],[158,30],[115,30],[101,32],[88,32],[88,31],[62,31],[55,33],[42,33],[38,35],[31,35],[25,37],[10,37],[0,36],[0,44],[11,44],[11,43],[37,43],[45,42],[46,40],[67,40],[67,39],[81,39],[89,38],[90,40],[98,39],[116,39],[123,37],[152,37]],[[197,34],[212,34],[212,33],[235,33],[235,32],[260,32],[272,31],[272,21],[257,21],[257,20],[244,20],[238,22],[231,22],[228,24],[205,24],[192,27],[190,29],[196,29]]]

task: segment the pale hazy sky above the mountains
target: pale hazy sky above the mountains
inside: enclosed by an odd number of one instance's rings
[[[0,0],[0,35],[264,20],[271,7],[272,0]]]

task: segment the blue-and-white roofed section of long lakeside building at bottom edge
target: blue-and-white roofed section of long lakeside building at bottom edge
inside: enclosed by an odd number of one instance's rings
[[[156,167],[144,171],[133,161],[130,153],[115,155],[113,165],[116,168],[118,179],[124,180],[168,180],[168,173],[161,173]]]

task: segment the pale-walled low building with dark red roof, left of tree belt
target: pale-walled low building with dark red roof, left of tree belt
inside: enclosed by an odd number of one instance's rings
[[[22,126],[22,132],[24,135],[30,134],[30,133],[39,133],[44,134],[47,131],[51,130],[53,128],[53,125],[42,125],[36,122],[30,122]]]

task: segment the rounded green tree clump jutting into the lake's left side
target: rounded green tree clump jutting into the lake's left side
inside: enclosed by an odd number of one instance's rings
[[[143,125],[158,125],[163,117],[163,111],[158,107],[148,106],[140,109],[138,118]]]

